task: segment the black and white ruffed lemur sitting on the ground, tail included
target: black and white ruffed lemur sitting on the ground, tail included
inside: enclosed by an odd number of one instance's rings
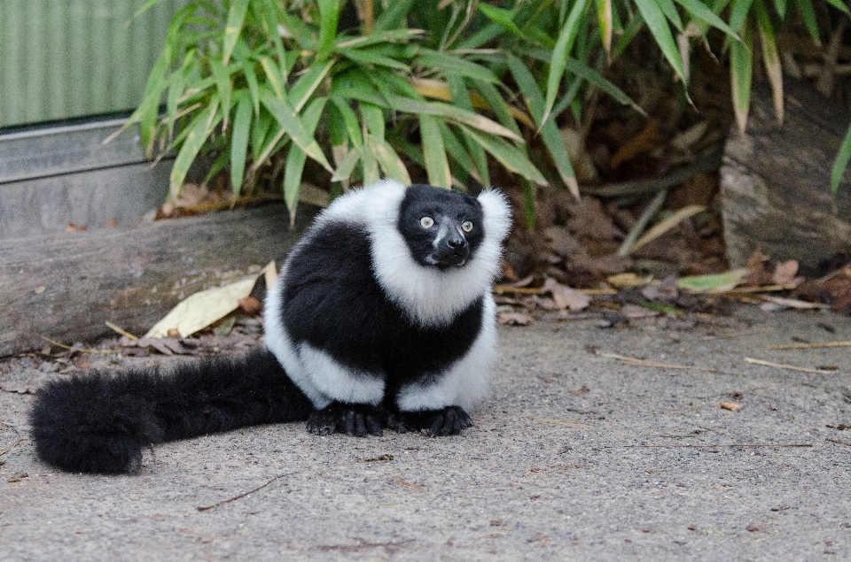
[[[51,381],[31,412],[38,455],[66,471],[125,473],[144,447],[257,424],[460,433],[496,358],[490,287],[510,214],[493,190],[384,180],[340,196],[269,288],[262,348]]]

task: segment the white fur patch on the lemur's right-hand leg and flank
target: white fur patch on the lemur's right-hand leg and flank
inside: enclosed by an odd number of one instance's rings
[[[496,360],[496,304],[485,296],[481,331],[464,358],[429,384],[413,383],[402,387],[396,403],[402,412],[437,410],[457,405],[469,409],[488,395],[490,367]]]

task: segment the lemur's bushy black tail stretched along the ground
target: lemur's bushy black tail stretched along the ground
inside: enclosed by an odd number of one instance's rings
[[[265,348],[163,372],[91,372],[52,381],[30,414],[38,455],[70,472],[134,472],[155,443],[263,423],[313,407]]]

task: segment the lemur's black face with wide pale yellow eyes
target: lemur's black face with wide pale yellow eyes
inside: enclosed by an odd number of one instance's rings
[[[449,189],[415,185],[399,212],[399,232],[422,266],[463,267],[484,238],[481,204]]]

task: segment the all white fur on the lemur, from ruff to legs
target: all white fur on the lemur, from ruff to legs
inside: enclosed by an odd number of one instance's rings
[[[499,272],[501,243],[511,227],[511,211],[501,193],[482,192],[478,200],[484,214],[484,240],[465,266],[441,271],[419,265],[399,233],[405,189],[398,181],[383,180],[349,192],[316,218],[303,240],[328,222],[362,225],[371,238],[373,273],[379,284],[421,326],[449,324],[458,312],[485,297],[481,331],[465,357],[439,373],[433,384],[403,388],[398,400],[405,411],[449,405],[469,408],[487,394],[489,369],[496,358],[496,305],[490,284]],[[297,250],[298,245],[290,256]],[[317,409],[332,400],[379,404],[385,388],[379,374],[355,372],[306,343],[293,345],[280,315],[286,268],[285,263],[266,296],[263,318],[267,349]]]

